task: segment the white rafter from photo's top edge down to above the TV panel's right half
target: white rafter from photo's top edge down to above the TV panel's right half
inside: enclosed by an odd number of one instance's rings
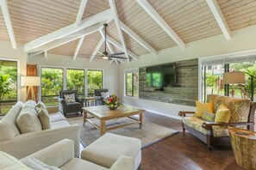
[[[178,44],[180,48],[183,50],[185,49],[184,41],[179,38],[178,34],[173,31],[172,27],[170,27],[169,24],[167,24],[166,21],[159,15],[159,13],[153,9],[147,0],[136,0],[136,2],[140,4],[140,7],[144,9],[147,14],[150,15],[153,20],[159,24],[159,27],[161,27],[165,33],[167,33],[172,38],[172,40]]]

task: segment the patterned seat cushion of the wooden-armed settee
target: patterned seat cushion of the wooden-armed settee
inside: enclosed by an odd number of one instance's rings
[[[204,135],[208,135],[210,133],[210,131],[208,131],[202,127],[203,122],[205,122],[205,120],[203,120],[203,118],[197,118],[196,116],[184,117],[182,119],[182,121],[184,124],[190,126],[190,128],[193,128],[196,131],[200,131]],[[228,137],[229,136],[227,126],[214,125],[213,133],[214,133],[214,137]]]

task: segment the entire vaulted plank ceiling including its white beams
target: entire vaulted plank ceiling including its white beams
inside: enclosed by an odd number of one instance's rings
[[[232,39],[234,30],[256,24],[255,0],[0,0],[0,5],[0,40],[23,44],[31,57],[48,52],[92,60],[97,50],[103,52],[104,22],[111,39],[107,51],[132,58],[172,46],[185,49],[186,43],[220,33]]]

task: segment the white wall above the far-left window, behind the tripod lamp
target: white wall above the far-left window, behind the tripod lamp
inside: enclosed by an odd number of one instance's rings
[[[18,61],[18,84],[21,76],[27,75],[27,54],[23,51],[23,46],[18,45],[15,50],[12,48],[10,42],[0,41],[0,60],[12,59]],[[26,100],[26,88],[18,86],[18,100]]]

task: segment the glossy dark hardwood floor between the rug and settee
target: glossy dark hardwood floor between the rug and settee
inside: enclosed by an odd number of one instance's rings
[[[243,169],[236,164],[231,146],[215,147],[209,152],[205,143],[182,131],[180,120],[150,112],[146,112],[145,119],[179,133],[142,149],[141,170]]]

